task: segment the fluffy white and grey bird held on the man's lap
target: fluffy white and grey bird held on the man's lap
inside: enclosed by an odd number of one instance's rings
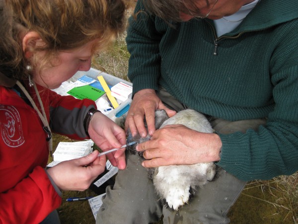
[[[202,113],[190,109],[180,111],[170,118],[168,118],[165,111],[156,111],[155,128],[162,128],[168,124],[183,124],[196,131],[213,133],[213,128],[207,118]],[[149,138],[149,135],[146,138],[141,138],[138,135],[132,139],[130,133],[128,142],[132,140],[144,142],[149,140]],[[135,147],[134,145],[129,147],[129,149],[136,153]],[[142,156],[142,153],[139,153],[139,155]],[[212,162],[160,166],[148,170],[157,194],[167,203],[169,208],[174,210],[178,210],[180,206],[188,204],[190,195],[194,194],[198,187],[213,180],[216,174],[216,166]]]

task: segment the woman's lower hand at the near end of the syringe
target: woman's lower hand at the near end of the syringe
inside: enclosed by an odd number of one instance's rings
[[[55,184],[64,191],[84,191],[105,170],[106,157],[98,151],[79,159],[61,162],[47,170]]]

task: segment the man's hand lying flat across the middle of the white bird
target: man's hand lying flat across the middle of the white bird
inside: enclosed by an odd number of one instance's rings
[[[151,140],[136,147],[145,151],[142,165],[146,168],[219,161],[221,148],[218,134],[198,132],[181,124],[156,130]]]

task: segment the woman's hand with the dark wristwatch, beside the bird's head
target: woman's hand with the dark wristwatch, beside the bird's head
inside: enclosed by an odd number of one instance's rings
[[[126,143],[125,131],[114,121],[100,112],[93,114],[88,126],[88,133],[90,138],[103,151],[107,151],[112,148],[120,148]],[[121,170],[126,167],[124,151],[125,148],[120,149],[117,152],[107,154],[111,164],[113,166],[117,166]]]

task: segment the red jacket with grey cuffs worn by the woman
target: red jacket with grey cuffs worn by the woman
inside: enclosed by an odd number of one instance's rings
[[[38,88],[52,131],[87,138],[83,119],[94,102]],[[0,223],[40,223],[62,201],[44,170],[49,155],[47,134],[35,110],[16,91],[2,86],[0,130]]]

